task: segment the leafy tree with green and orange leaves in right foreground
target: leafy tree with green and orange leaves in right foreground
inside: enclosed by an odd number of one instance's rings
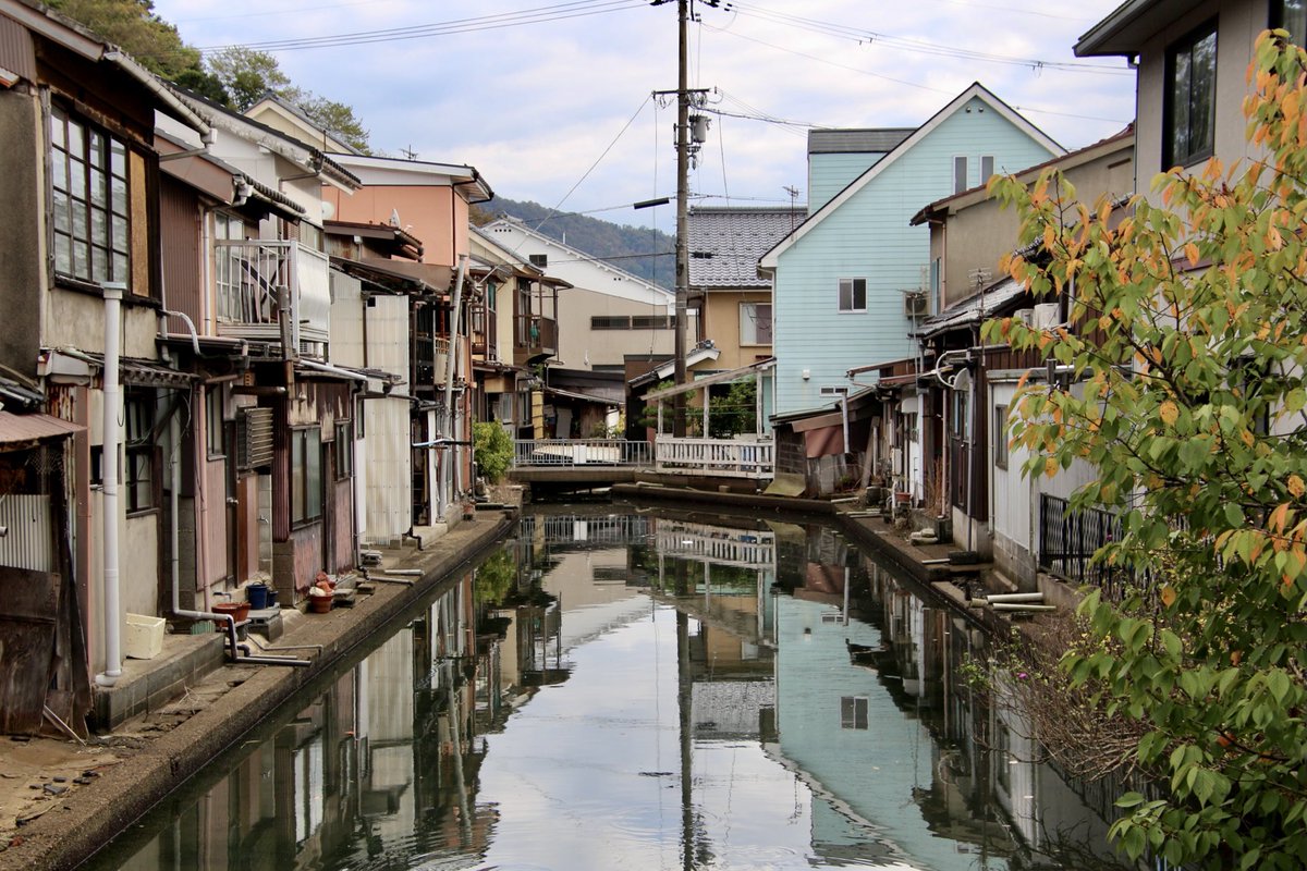
[[[1302,868],[1307,857],[1307,52],[1263,34],[1244,103],[1264,158],[1159,175],[1161,206],[1089,209],[1056,175],[992,192],[1022,215],[1008,262],[1069,323],[985,324],[1070,377],[1012,414],[1027,474],[1093,464],[1073,498],[1124,535],[1095,559],[1129,572],[1090,594],[1104,644],[1063,658],[1072,683],[1146,725],[1157,790],[1117,802],[1132,858]]]

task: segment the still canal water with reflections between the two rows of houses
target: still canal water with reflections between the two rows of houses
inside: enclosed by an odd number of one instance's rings
[[[1112,797],[822,526],[528,513],[93,868],[1119,868]]]

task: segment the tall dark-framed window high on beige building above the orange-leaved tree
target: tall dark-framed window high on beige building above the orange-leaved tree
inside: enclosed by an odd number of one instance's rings
[[[1166,54],[1166,168],[1212,155],[1216,136],[1217,26],[1209,22]]]

